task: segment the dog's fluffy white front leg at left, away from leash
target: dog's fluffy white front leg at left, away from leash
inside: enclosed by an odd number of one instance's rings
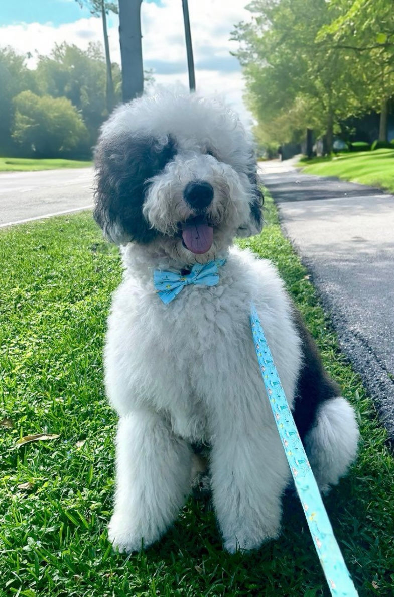
[[[119,420],[116,496],[108,536],[120,552],[159,539],[190,491],[191,450],[157,413],[134,411]]]

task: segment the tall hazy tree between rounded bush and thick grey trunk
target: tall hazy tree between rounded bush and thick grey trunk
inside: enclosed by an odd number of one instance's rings
[[[88,128],[88,142],[93,146],[98,130],[108,116],[106,106],[106,63],[99,44],[88,50],[76,45],[57,45],[50,56],[40,56],[36,69],[40,93],[66,97],[81,113]],[[113,64],[114,101],[122,96],[122,75]]]

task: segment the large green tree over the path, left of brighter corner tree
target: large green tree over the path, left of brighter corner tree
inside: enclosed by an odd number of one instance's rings
[[[392,0],[253,0],[248,5],[252,22],[240,23],[234,36],[240,41],[237,56],[244,67],[246,99],[258,119],[260,140],[299,140],[309,127],[325,134],[330,151],[339,122],[374,107],[370,88],[376,84],[377,70],[365,72],[339,31],[349,26],[353,5],[365,5],[374,13],[380,4],[393,7]],[[379,30],[380,37],[366,22],[361,35],[368,44],[372,40],[387,46],[392,39],[389,21]],[[365,52],[369,53],[368,44]],[[376,59],[382,63],[381,54]]]

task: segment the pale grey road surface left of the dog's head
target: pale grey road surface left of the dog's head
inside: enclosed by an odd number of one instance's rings
[[[89,209],[93,170],[0,173],[0,227]]]

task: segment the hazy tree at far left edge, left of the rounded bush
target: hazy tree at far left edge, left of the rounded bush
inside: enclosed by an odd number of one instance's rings
[[[25,57],[12,48],[0,49],[0,152],[5,155],[13,149],[13,98],[21,91],[36,89],[34,75],[25,62]]]

